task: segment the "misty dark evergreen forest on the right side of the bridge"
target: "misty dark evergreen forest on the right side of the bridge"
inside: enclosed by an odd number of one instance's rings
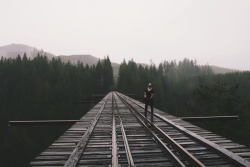
[[[146,85],[151,82],[156,92],[154,106],[177,117],[239,115],[240,121],[195,124],[250,146],[249,81],[249,71],[215,74],[208,65],[199,66],[189,59],[164,61],[158,67],[131,60],[120,66],[117,89],[142,100]]]

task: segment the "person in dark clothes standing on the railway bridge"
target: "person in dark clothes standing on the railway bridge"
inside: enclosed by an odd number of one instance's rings
[[[151,122],[153,121],[153,97],[154,97],[154,90],[151,83],[148,83],[147,88],[144,91],[144,100],[145,100],[145,117],[147,118],[147,112],[148,112],[148,105],[151,107]]]

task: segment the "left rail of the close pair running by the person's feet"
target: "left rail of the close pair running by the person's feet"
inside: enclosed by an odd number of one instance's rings
[[[118,94],[117,94],[118,95]],[[163,143],[163,141],[156,135],[153,133],[153,131],[148,128],[148,126],[144,123],[143,120],[141,120],[134,108],[132,108],[121,96],[118,95],[118,97],[120,98],[120,100],[127,106],[127,108],[130,110],[130,112],[135,116],[135,118],[144,126],[144,128],[153,136],[154,140],[156,141],[156,143],[163,149],[163,151],[168,155],[168,157],[170,158],[170,160],[173,162],[173,164],[177,167],[185,167],[186,165],[183,164],[179,158]]]

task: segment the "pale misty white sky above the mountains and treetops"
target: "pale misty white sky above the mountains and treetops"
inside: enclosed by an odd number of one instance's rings
[[[0,0],[0,46],[250,70],[250,0]]]

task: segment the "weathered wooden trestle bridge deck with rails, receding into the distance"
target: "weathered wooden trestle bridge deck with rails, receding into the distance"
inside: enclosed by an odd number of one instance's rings
[[[249,166],[250,149],[110,92],[29,166]],[[150,116],[150,114],[148,114]]]

